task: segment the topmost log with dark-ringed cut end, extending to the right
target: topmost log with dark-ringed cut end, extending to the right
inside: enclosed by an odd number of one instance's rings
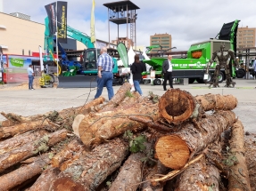
[[[178,123],[188,118],[198,118],[204,111],[232,110],[236,106],[237,99],[233,95],[206,94],[193,97],[190,92],[169,89],[161,96],[159,112],[168,123]]]

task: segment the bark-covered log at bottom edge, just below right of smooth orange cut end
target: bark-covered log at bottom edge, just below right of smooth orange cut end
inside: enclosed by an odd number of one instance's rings
[[[213,165],[207,165],[205,158],[202,157],[182,172],[175,191],[219,191],[219,179],[218,169]]]

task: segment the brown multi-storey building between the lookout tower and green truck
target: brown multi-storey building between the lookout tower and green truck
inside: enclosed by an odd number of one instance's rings
[[[169,50],[171,48],[171,35],[169,34],[155,34],[150,36],[150,45],[158,46],[158,48],[153,48],[151,53]],[[170,50],[169,50],[170,51]]]

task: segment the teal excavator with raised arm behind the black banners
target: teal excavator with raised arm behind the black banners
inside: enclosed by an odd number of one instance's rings
[[[45,49],[48,52],[53,52],[54,42],[56,43],[55,36],[50,36],[50,30],[48,28],[48,18],[45,19]],[[60,64],[59,69],[59,85],[61,88],[80,88],[80,87],[96,87],[97,76],[97,59],[100,55],[100,49],[95,49],[95,45],[91,43],[91,38],[87,34],[78,31],[77,29],[67,27],[67,35],[71,38],[85,44],[87,49],[84,50],[80,56],[80,60],[69,60],[67,53],[62,48],[62,45],[58,43],[58,48],[62,52],[62,55],[58,61]],[[45,65],[53,63],[53,55],[45,57]],[[123,84],[122,76],[119,75],[119,69],[117,60],[112,57],[114,68],[113,72],[113,84]]]

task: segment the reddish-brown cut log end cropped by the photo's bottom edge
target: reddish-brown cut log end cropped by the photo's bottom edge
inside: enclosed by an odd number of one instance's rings
[[[69,177],[56,179],[51,187],[53,191],[86,191],[87,189]]]

